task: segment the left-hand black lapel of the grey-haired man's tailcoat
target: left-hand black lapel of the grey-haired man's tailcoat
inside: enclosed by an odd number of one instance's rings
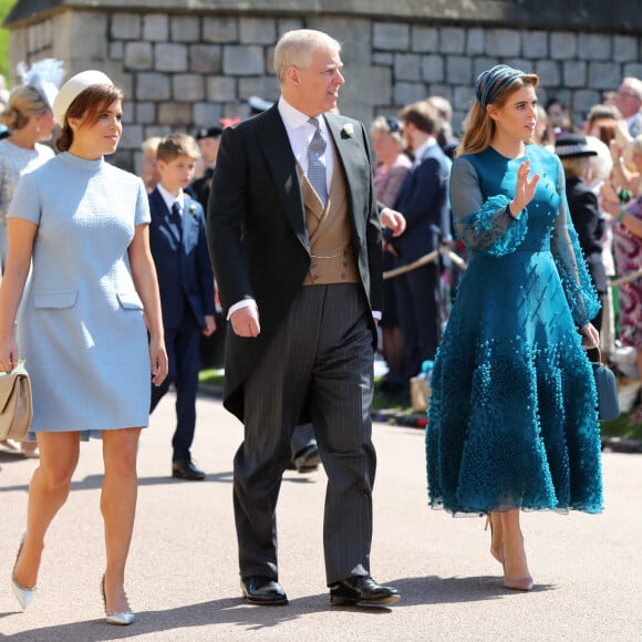
[[[259,130],[258,138],[279,191],[286,218],[303,247],[308,248],[308,230],[297,159],[277,104],[266,112],[265,126]]]

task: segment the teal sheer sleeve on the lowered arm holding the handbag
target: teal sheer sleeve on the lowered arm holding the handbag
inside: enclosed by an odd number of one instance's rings
[[[567,203],[561,163],[558,163],[557,191],[560,210],[552,231],[551,251],[573,321],[578,328],[582,328],[600,311],[600,301],[591,283],[586,262],[582,260],[578,235]]]

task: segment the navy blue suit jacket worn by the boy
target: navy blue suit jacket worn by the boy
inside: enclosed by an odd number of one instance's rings
[[[183,239],[158,189],[149,194],[149,245],[158,275],[163,324],[166,330],[177,329],[189,307],[204,328],[205,315],[215,313],[215,303],[203,206],[185,195]]]

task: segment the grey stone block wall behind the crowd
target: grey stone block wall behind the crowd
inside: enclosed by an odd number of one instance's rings
[[[380,0],[346,0],[343,12],[335,9],[333,14],[323,14],[315,2],[308,2],[306,17],[283,10],[297,8],[293,1],[272,2],[281,10],[261,13],[266,2],[255,1],[250,9],[239,0],[128,4],[40,0],[35,12],[25,12],[28,3],[18,2],[6,23],[11,30],[11,69],[21,60],[53,55],[65,62],[70,74],[90,68],[107,73],[126,95],[124,137],[114,161],[133,170],[147,136],[193,132],[227,116],[245,117],[252,94],[276,100],[272,52],[279,35],[289,29],[321,29],[343,43],[346,84],[339,106],[366,123],[439,94],[452,101],[457,128],[470,105],[474,79],[497,62],[540,74],[540,101],[555,94],[580,118],[623,76],[642,77],[639,15],[638,23],[625,25],[611,20],[610,30],[603,29],[603,21],[588,18],[578,25],[577,17],[553,29],[543,20],[547,3],[539,21],[534,17],[528,28],[528,15],[519,13],[522,2],[405,0],[395,7],[394,17],[379,11]],[[186,8],[180,10],[183,3]],[[424,9],[431,4],[434,11],[413,13],[413,4]],[[470,20],[470,12],[456,19],[453,11],[463,12],[472,4],[477,8],[476,20]],[[482,19],[485,9],[496,12],[501,4],[512,9],[510,28],[495,13],[493,20]],[[559,2],[548,3],[552,4],[559,7]]]

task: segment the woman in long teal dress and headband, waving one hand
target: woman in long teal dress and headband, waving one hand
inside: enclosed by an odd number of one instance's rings
[[[470,261],[435,359],[429,504],[486,514],[504,584],[530,590],[520,510],[600,512],[596,389],[586,348],[599,310],[557,156],[529,144],[538,76],[497,65],[451,176]],[[583,345],[582,345],[583,343]]]

